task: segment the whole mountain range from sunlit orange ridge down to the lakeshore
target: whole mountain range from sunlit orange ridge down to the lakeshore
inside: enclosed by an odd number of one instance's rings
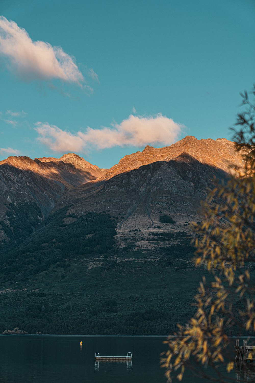
[[[193,136],[110,169],[76,154],[1,161],[0,298],[10,306],[0,331],[173,331],[204,272],[190,223],[233,166],[243,166],[233,142]]]

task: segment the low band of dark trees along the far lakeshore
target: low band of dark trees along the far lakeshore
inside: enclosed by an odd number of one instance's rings
[[[43,295],[43,296],[41,296]],[[166,335],[177,329],[177,322],[184,323],[194,309],[187,302],[173,301],[170,304],[162,300],[158,307],[148,307],[140,311],[123,311],[123,303],[129,305],[134,297],[89,296],[81,306],[73,296],[62,293],[24,293],[2,295],[1,311],[4,305],[19,306],[21,297],[23,306],[16,309],[13,315],[2,316],[0,333],[4,330],[19,327],[29,334],[91,334],[91,335]],[[142,301],[140,297],[135,298]],[[169,322],[171,324],[169,325]]]

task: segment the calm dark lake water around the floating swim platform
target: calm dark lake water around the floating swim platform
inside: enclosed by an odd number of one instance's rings
[[[166,349],[163,341],[160,337],[0,336],[0,382],[166,383],[159,365],[159,354]],[[94,361],[96,352],[126,355],[129,351],[132,364]],[[255,379],[253,365],[233,371],[232,378]],[[183,382],[205,380],[186,373]]]

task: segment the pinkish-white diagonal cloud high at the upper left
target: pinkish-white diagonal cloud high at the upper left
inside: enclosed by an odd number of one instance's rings
[[[25,29],[4,16],[0,16],[0,54],[8,59],[8,67],[26,81],[61,79],[81,85],[84,80],[73,57],[61,47],[32,41]]]

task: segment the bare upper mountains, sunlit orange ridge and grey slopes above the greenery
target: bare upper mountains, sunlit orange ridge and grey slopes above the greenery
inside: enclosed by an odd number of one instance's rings
[[[114,215],[125,213],[125,218],[118,218],[119,228],[130,229],[135,222],[147,228],[159,223],[151,203],[178,216],[177,204],[183,205],[183,198],[192,198],[190,206],[197,210],[213,175],[226,177],[229,165],[242,167],[242,156],[233,142],[197,140],[193,136],[159,149],[147,145],[110,169],[99,169],[76,154],[64,154],[59,159],[8,157],[0,161],[0,217],[11,227],[6,213],[10,214],[12,206],[18,219],[18,207],[22,210],[24,204],[30,205],[25,219],[26,224],[31,219],[31,233],[50,211],[68,201],[78,204],[71,211],[78,207],[78,211],[102,213],[110,209]],[[176,209],[168,206],[173,199]],[[24,217],[20,219],[22,225]],[[8,240],[1,226],[0,239]]]

